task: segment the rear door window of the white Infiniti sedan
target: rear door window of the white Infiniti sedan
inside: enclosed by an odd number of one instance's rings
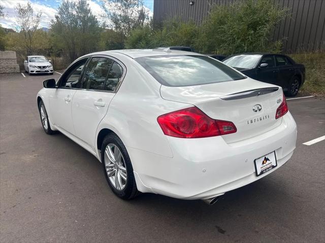
[[[109,58],[93,57],[87,65],[87,70],[85,71],[80,88],[103,90],[112,63],[113,60]]]

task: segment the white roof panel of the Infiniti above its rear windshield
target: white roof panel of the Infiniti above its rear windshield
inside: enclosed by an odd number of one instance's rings
[[[203,56],[202,54],[196,52],[189,52],[189,51],[178,51],[178,50],[169,50],[164,51],[161,49],[125,49],[125,50],[112,50],[112,51],[102,51],[102,52],[95,52],[89,55],[111,55],[112,53],[120,53],[124,54],[131,58],[137,57],[146,57],[146,56],[172,56],[172,55],[198,55]]]

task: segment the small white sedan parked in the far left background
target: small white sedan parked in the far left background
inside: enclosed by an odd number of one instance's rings
[[[53,66],[45,56],[27,56],[24,61],[25,72],[31,74],[53,74]]]

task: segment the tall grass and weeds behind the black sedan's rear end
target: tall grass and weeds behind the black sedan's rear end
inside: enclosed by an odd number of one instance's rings
[[[325,96],[325,53],[297,53],[289,56],[306,67],[305,83],[299,92]]]

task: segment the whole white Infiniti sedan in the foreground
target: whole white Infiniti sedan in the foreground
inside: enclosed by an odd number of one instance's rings
[[[213,204],[278,169],[296,148],[281,87],[198,53],[92,53],[44,87],[44,131],[98,158],[123,199],[149,192]]]

